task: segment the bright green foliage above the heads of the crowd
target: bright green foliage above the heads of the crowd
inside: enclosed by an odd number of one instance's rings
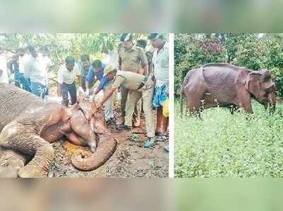
[[[147,35],[134,34],[134,40],[146,39]],[[119,36],[113,33],[0,33],[0,47],[15,53],[18,47],[46,46],[54,64],[52,71],[57,73],[59,65],[68,55],[76,60],[83,54],[91,55],[91,59],[102,59],[108,50],[117,48]]]

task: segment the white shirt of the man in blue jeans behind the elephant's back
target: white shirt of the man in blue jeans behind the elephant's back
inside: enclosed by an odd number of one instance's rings
[[[28,62],[25,64],[25,74],[30,76],[30,81],[47,85],[46,83],[46,72],[40,63],[40,57],[30,57]]]

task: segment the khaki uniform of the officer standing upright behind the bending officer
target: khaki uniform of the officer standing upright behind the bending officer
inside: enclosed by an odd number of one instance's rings
[[[119,62],[122,64],[122,71],[134,72],[143,74],[141,72],[141,64],[147,64],[147,57],[144,50],[140,47],[132,47],[131,50],[122,49],[119,52]],[[129,90],[121,89],[121,113],[122,118],[125,118],[125,106],[127,102]],[[141,113],[141,101],[137,102],[136,115],[139,116]]]

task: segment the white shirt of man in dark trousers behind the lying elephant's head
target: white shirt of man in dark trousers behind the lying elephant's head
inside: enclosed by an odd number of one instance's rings
[[[78,64],[75,63],[74,69],[71,72],[67,69],[66,64],[63,64],[58,72],[58,83],[73,84],[76,76],[81,76]]]

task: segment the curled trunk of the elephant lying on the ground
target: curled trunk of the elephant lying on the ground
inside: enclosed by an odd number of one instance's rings
[[[114,154],[117,147],[117,141],[111,135],[102,135],[98,142],[96,152],[91,156],[84,157],[81,152],[75,152],[71,156],[71,163],[81,171],[92,171],[105,164]]]

